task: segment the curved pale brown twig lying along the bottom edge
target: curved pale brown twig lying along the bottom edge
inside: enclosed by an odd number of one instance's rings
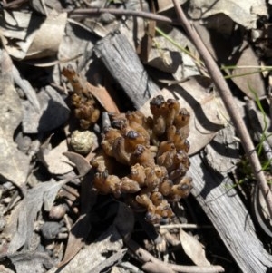
[[[145,249],[142,249],[135,241],[132,239],[125,240],[126,245],[132,250],[133,254],[137,256],[139,260],[144,264],[143,268],[149,272],[159,272],[173,273],[173,272],[183,272],[183,273],[216,273],[224,272],[224,268],[220,266],[179,266],[161,261],[155,258]]]

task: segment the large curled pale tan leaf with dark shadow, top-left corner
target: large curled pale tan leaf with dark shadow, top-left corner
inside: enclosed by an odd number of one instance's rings
[[[57,54],[63,39],[67,14],[49,15],[43,21],[41,16],[29,12],[5,13],[2,42],[10,55],[16,59],[40,58]],[[12,24],[15,30],[11,31],[7,25]],[[55,26],[58,26],[57,28]],[[14,44],[15,38],[19,42]],[[16,46],[15,46],[16,45]]]

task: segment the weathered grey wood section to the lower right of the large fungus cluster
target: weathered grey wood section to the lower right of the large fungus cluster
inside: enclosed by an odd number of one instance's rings
[[[272,256],[257,238],[248,210],[240,200],[232,181],[208,170],[199,154],[190,158],[189,176],[192,194],[219,232],[239,268],[248,272],[270,272]]]

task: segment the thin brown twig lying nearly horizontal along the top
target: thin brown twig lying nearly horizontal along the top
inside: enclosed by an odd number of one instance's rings
[[[78,8],[70,12],[70,17],[82,18],[88,15],[93,16],[93,15],[101,15],[104,13],[108,13],[111,15],[120,15],[120,16],[141,17],[141,18],[150,19],[153,21],[167,23],[167,24],[180,24],[176,20],[172,20],[169,17],[163,16],[163,15],[155,15],[148,12],[134,11],[134,10],[128,10],[128,9],[117,9],[117,8],[100,8],[100,7],[84,8],[84,9]]]

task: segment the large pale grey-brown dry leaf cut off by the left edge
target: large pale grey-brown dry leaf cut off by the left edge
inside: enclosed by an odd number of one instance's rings
[[[27,177],[30,158],[17,149],[13,139],[22,121],[22,107],[12,81],[13,63],[5,51],[0,51],[0,65],[0,174],[2,180],[10,180],[21,187]]]

